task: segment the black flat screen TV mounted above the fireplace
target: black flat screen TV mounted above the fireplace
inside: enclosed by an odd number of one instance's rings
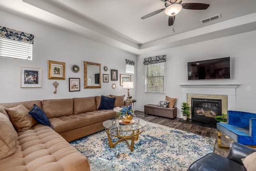
[[[188,62],[188,80],[230,79],[230,57]]]

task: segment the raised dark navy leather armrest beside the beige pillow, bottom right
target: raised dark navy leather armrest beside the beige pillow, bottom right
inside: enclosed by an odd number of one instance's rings
[[[253,152],[256,152],[256,149],[248,147],[246,145],[242,145],[240,143],[233,142],[230,144],[227,158],[243,164],[241,159],[247,157]]]

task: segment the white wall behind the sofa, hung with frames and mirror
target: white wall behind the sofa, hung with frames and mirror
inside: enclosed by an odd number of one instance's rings
[[[126,95],[127,90],[120,86],[120,74],[125,74],[125,59],[136,61],[136,56],[97,42],[81,38],[74,34],[46,26],[0,10],[0,26],[34,34],[33,61],[0,58],[0,103],[30,101],[41,99],[61,99],[89,97],[95,95]],[[48,60],[66,63],[66,80],[48,80]],[[109,82],[101,89],[84,89],[83,62],[101,64],[102,74],[109,74]],[[72,65],[80,66],[80,72],[74,73]],[[103,66],[108,66],[108,72]],[[42,68],[41,88],[20,88],[20,66]],[[136,64],[135,64],[136,67]],[[118,81],[111,81],[110,70],[118,70]],[[128,74],[130,75],[130,74]],[[132,81],[136,85],[136,75]],[[68,78],[80,78],[80,91],[69,92]],[[53,82],[59,82],[57,94]],[[116,89],[111,84],[116,84]],[[136,87],[130,94],[136,98]]]

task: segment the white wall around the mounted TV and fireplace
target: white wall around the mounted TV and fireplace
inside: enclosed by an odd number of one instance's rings
[[[140,55],[137,58],[137,109],[144,110],[148,103],[156,104],[165,95],[178,98],[175,106],[180,113],[182,93],[180,84],[240,84],[236,89],[236,110],[256,113],[256,31],[228,36],[206,42],[170,48]],[[166,94],[144,93],[143,59],[150,56],[166,55]],[[188,81],[187,62],[214,58],[231,58],[230,80]],[[252,91],[246,87],[251,86]]]

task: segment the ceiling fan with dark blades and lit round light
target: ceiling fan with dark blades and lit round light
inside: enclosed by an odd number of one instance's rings
[[[182,8],[189,9],[189,10],[206,10],[210,4],[203,4],[203,3],[181,3],[182,0],[161,0],[165,4],[164,6],[166,8],[162,8],[160,10],[156,10],[154,12],[151,12],[150,14],[147,14],[146,16],[143,16],[141,19],[149,18],[151,16],[154,16],[160,12],[163,12],[169,16],[168,24],[169,26],[172,26],[174,24],[175,15],[178,14]]]

